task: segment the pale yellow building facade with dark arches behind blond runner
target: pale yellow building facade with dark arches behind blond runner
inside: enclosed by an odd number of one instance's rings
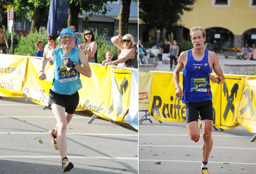
[[[190,28],[202,26],[206,42],[213,44],[216,51],[246,43],[251,46],[256,44],[256,0],[197,0],[192,11],[184,12],[179,24],[183,26],[177,29],[179,40],[188,37]]]

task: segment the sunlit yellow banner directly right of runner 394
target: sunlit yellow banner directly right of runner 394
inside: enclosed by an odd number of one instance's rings
[[[123,121],[129,109],[132,71],[90,65],[92,77],[81,76],[78,109],[89,109],[102,118]]]

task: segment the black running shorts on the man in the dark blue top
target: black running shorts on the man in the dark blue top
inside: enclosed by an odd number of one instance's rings
[[[197,103],[186,103],[186,122],[198,121],[200,114],[201,120],[213,120],[212,101],[207,100]]]

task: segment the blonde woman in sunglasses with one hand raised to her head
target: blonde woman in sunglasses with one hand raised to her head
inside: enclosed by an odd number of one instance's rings
[[[121,42],[119,40],[122,40]],[[138,60],[135,56],[136,53],[136,44],[134,43],[133,36],[131,34],[125,34],[124,37],[118,34],[111,38],[112,43],[121,50],[121,53],[118,56],[118,59],[112,62],[105,64],[107,65],[116,65],[118,66],[129,66],[133,68],[138,68]]]

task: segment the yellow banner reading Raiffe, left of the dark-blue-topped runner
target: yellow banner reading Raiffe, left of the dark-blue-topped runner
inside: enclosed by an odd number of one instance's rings
[[[182,74],[179,76],[182,82]],[[182,84],[180,84],[182,86]],[[149,113],[158,121],[186,121],[186,106],[175,96],[173,73],[153,72]]]

